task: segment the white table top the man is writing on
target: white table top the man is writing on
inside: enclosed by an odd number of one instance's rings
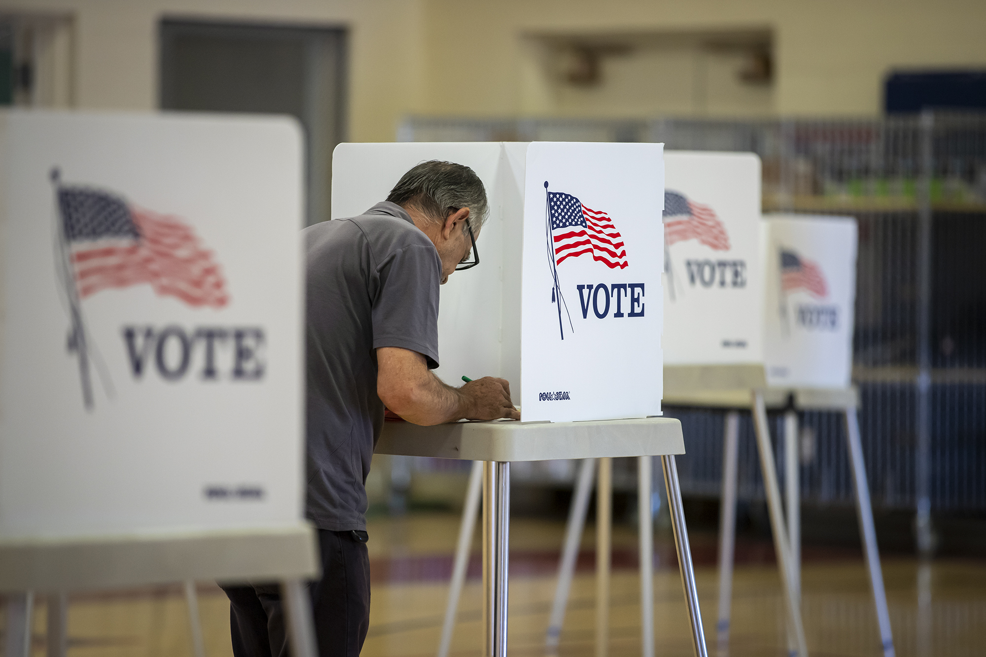
[[[681,423],[670,417],[436,426],[387,420],[376,451],[465,461],[547,461],[684,454],[684,440]]]

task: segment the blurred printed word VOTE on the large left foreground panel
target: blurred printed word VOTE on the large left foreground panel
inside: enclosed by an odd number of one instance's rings
[[[164,328],[132,326],[123,328],[122,337],[134,379],[140,379],[144,372],[154,368],[163,379],[179,381],[196,369],[192,367],[193,360],[201,364],[199,372],[204,381],[226,378],[220,374],[221,366],[233,380],[263,378],[263,328],[198,327],[185,330],[176,325]]]

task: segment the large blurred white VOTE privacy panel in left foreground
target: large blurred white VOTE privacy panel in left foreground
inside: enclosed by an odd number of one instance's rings
[[[0,114],[0,539],[301,524],[302,161],[287,118]]]

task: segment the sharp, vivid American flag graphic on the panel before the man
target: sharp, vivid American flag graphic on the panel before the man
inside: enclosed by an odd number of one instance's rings
[[[572,194],[549,191],[548,214],[555,264],[592,254],[610,269],[627,266],[623,238],[605,212],[586,207]]]

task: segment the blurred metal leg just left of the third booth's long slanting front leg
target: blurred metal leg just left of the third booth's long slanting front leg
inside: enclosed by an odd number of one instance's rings
[[[733,558],[737,535],[737,470],[740,457],[740,412],[726,413],[723,436],[723,494],[719,510],[719,657],[730,652],[730,613],[733,603]]]

